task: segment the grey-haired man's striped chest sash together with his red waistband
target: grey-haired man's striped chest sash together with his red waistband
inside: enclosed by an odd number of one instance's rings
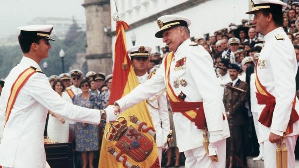
[[[207,126],[205,112],[202,102],[185,102],[174,93],[170,83],[169,83],[169,74],[170,74],[170,64],[173,59],[174,53],[170,52],[167,54],[164,65],[165,65],[165,81],[167,89],[167,97],[169,98],[170,106],[173,112],[180,112],[190,121],[194,122],[195,126],[198,129],[205,129]],[[199,108],[197,110],[197,108]],[[222,114],[223,120],[225,120],[224,115]]]

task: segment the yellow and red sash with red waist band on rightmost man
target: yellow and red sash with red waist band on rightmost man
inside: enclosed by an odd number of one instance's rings
[[[257,60],[258,61],[258,60]],[[260,117],[259,122],[263,124],[266,127],[270,127],[272,123],[273,118],[273,112],[276,104],[275,97],[271,95],[266,88],[260,83],[260,80],[257,76],[257,64],[255,65],[255,86],[257,88],[256,97],[257,97],[257,104],[264,104],[266,105],[263,109]],[[290,120],[288,123],[288,127],[286,129],[286,134],[290,134],[293,132],[293,123],[295,123],[297,120],[299,120],[299,115],[295,110],[296,105],[296,96],[292,103],[292,111]]]

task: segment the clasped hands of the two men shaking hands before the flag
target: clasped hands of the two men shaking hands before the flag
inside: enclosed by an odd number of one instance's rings
[[[119,106],[109,105],[106,109],[101,110],[101,120],[106,120],[106,122],[115,121],[120,114]]]

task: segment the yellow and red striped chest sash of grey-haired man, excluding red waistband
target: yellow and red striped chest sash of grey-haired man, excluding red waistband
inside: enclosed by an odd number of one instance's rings
[[[173,59],[174,53],[170,52],[167,54],[165,60],[164,60],[164,65],[165,65],[165,81],[166,81],[166,89],[167,89],[167,97],[169,98],[170,101],[172,102],[180,102],[180,103],[185,103],[184,100],[180,99],[176,94],[174,93],[170,83],[169,83],[169,74],[170,74],[170,65],[171,61]],[[185,117],[187,117],[190,121],[195,122],[195,118],[197,115],[197,110],[189,110],[186,112],[181,112]]]

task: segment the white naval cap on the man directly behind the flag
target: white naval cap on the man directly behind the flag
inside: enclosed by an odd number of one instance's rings
[[[128,54],[130,55],[130,59],[135,57],[149,57],[152,48],[147,45],[134,45],[129,48]]]

